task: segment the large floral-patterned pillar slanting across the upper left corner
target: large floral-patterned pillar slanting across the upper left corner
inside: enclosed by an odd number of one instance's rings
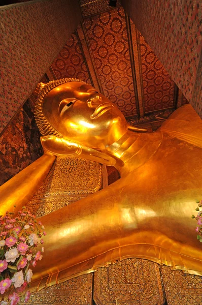
[[[0,132],[35,89],[81,20],[77,1],[32,1],[0,7]]]

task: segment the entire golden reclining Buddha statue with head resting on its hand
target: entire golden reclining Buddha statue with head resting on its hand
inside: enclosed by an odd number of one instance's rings
[[[36,120],[44,155],[0,188],[2,214],[32,198],[57,156],[113,165],[121,178],[40,219],[47,235],[33,287],[132,257],[202,275],[191,219],[202,195],[202,121],[191,105],[146,133],[91,85],[61,79],[41,88]]]

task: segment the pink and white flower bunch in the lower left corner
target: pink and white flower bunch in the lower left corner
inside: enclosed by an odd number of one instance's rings
[[[25,289],[33,275],[31,267],[36,266],[44,252],[43,247],[41,251],[36,250],[36,247],[44,243],[42,235],[46,235],[44,226],[25,207],[15,218],[14,212],[8,211],[5,217],[0,217],[1,305],[28,301],[30,292],[25,293]]]

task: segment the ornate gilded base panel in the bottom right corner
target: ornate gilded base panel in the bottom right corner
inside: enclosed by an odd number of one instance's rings
[[[202,277],[171,270],[167,266],[160,269],[168,305],[202,304]]]

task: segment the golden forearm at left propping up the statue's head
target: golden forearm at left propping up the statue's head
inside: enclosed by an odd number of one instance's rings
[[[55,156],[46,153],[0,187],[0,215],[7,210],[21,209],[41,186],[50,171]]]

